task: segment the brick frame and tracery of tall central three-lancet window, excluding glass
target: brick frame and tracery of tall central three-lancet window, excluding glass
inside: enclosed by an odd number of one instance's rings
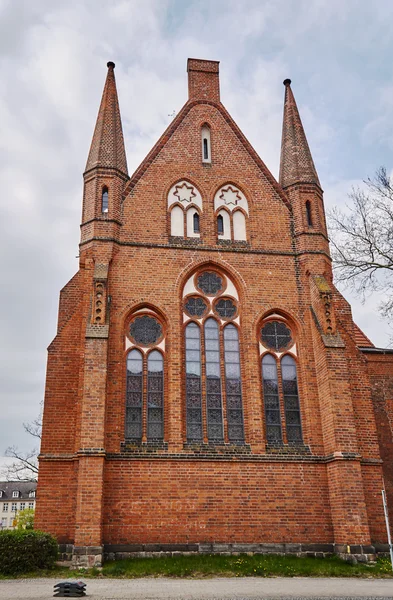
[[[194,279],[194,285],[195,285],[195,289],[196,292],[192,292],[190,294],[187,294],[184,296],[183,302],[186,303],[187,299],[190,298],[191,296],[198,296],[200,298],[203,298],[203,300],[206,302],[206,310],[204,312],[202,312],[202,314],[200,314],[200,316],[198,317],[192,317],[190,315],[188,315],[186,312],[183,312],[184,315],[184,323],[183,323],[183,330],[184,330],[184,371],[185,371],[185,437],[187,439],[188,443],[236,443],[236,444],[242,444],[244,443],[245,440],[245,431],[244,431],[244,398],[243,398],[243,390],[242,390],[242,371],[243,371],[243,363],[242,363],[242,351],[241,351],[241,331],[240,331],[240,325],[239,325],[239,301],[236,297],[232,296],[231,294],[228,293],[227,290],[227,284],[225,283],[225,276],[223,276],[221,273],[217,272],[216,274],[219,275],[220,277],[222,277],[223,279],[223,287],[222,289],[220,289],[217,293],[215,294],[206,294],[203,291],[201,291],[200,289],[198,289],[198,286],[196,284],[198,276],[203,273],[203,271],[213,271],[215,272],[215,269],[212,268],[205,268],[201,271],[198,271],[195,273],[193,279]],[[229,285],[229,284],[228,284]],[[233,286],[233,283],[230,282],[230,285]],[[235,304],[236,304],[236,312],[234,313],[233,316],[233,320],[230,320],[229,318],[222,318],[219,314],[216,313],[216,311],[214,310],[214,306],[215,303],[221,298],[227,298],[232,300]],[[183,308],[184,311],[184,308]],[[217,393],[217,390],[213,389],[213,388],[209,388],[209,381],[208,381],[208,375],[209,375],[209,371],[208,371],[208,363],[209,363],[209,357],[207,356],[207,352],[210,352],[212,350],[211,348],[211,343],[209,345],[209,338],[207,337],[207,333],[206,333],[206,323],[208,323],[209,321],[214,321],[217,324],[217,328],[218,328],[218,343],[219,343],[219,365],[220,365],[220,393]],[[194,422],[191,422],[191,425],[194,425],[194,432],[199,431],[199,435],[190,435],[190,413],[189,411],[191,411],[193,408],[195,408],[196,404],[198,404],[198,399],[196,398],[196,393],[194,395],[195,389],[196,387],[198,387],[198,383],[195,382],[195,378],[196,376],[192,376],[191,372],[189,370],[189,364],[188,364],[188,360],[189,360],[189,356],[187,354],[187,352],[190,350],[189,344],[187,343],[187,328],[190,325],[193,325],[194,328],[197,328],[198,332],[199,332],[199,340],[200,340],[200,350],[199,350],[199,355],[200,355],[200,375],[198,375],[199,377],[199,387],[200,387],[200,391],[198,392],[200,394],[200,402],[201,405],[198,407],[198,411],[199,411],[199,415],[200,417],[198,417],[198,419],[196,419]],[[237,335],[237,354],[238,354],[238,372],[239,372],[239,378],[238,378],[238,383],[233,385],[231,387],[231,390],[228,388],[228,381],[231,379],[236,379],[236,377],[234,378],[232,377],[228,377],[228,374],[226,372],[226,368],[227,368],[227,362],[228,362],[228,358],[226,356],[226,344],[225,344],[225,335],[224,332],[226,330],[226,328],[229,326],[230,327],[234,327],[234,329],[236,330],[236,335]],[[229,331],[229,330],[228,330]],[[210,340],[211,342],[211,340]],[[232,349],[233,350],[233,349]],[[192,356],[192,355],[191,355]],[[191,361],[192,362],[192,361]],[[187,373],[189,373],[191,375],[191,379],[194,379],[194,383],[192,383],[189,387],[188,385],[188,376]],[[213,387],[216,388],[216,386],[214,385],[213,382]],[[237,388],[237,389],[234,389]],[[189,402],[190,400],[190,395],[192,396],[191,398],[191,403]],[[221,407],[217,406],[217,402],[218,402],[218,398],[214,398],[214,402],[216,403],[216,405],[214,406],[214,403],[209,403],[209,396],[220,396],[221,397]],[[232,406],[228,405],[228,398],[229,396],[232,397]],[[238,400],[237,404],[239,406],[236,406],[236,398],[235,396],[240,397],[240,401]],[[192,404],[194,403],[194,404]],[[223,415],[223,429],[222,429],[222,433],[223,435],[220,436],[219,432],[218,432],[218,427],[211,427],[211,423],[212,423],[212,418],[214,419],[214,423],[213,425],[219,425],[218,423],[218,417],[217,414],[214,413],[214,411],[220,411]],[[213,412],[211,412],[213,411]],[[232,412],[231,412],[232,411]],[[235,414],[236,413],[236,414]],[[209,415],[210,415],[210,420],[209,420]],[[194,413],[194,416],[197,416],[196,413]],[[217,417],[217,418],[215,418]],[[197,424],[198,422],[201,422],[201,427],[198,428]]]

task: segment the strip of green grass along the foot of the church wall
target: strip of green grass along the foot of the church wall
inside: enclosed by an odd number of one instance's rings
[[[106,577],[389,577],[390,560],[350,564],[337,556],[313,558],[253,555],[128,558],[105,563]]]

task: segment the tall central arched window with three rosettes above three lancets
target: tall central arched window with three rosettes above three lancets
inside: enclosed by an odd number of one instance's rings
[[[238,298],[230,280],[204,270],[184,297],[186,436],[192,443],[243,442]],[[188,322],[187,322],[188,321]]]

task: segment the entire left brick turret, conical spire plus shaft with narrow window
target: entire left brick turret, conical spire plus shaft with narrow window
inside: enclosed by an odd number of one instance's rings
[[[116,238],[121,225],[121,198],[129,179],[113,62],[108,73],[84,178],[81,245]]]

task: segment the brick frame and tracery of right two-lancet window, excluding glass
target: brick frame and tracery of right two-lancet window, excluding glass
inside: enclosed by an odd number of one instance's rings
[[[279,315],[275,314],[272,315],[270,318],[266,318],[263,320],[263,322],[259,325],[258,327],[258,343],[259,345],[261,345],[260,343],[260,339],[261,339],[261,331],[264,325],[266,325],[267,323],[269,323],[270,321],[279,321],[284,323],[290,330],[292,333],[292,342],[290,344],[289,347],[285,347],[282,351],[275,351],[272,349],[264,349],[262,352],[260,350],[259,354],[260,354],[260,376],[261,376],[261,390],[262,390],[262,398],[263,398],[263,406],[264,406],[264,415],[265,415],[265,434],[266,434],[266,441],[268,443],[268,445],[281,445],[281,444],[303,444],[303,428],[302,428],[302,415],[301,415],[301,406],[300,406],[300,394],[299,394],[299,360],[298,360],[298,356],[297,356],[297,336],[296,336],[296,328],[294,327],[294,325],[292,323],[288,323],[288,321],[282,317],[280,317]],[[277,390],[278,390],[278,398],[279,398],[279,410],[280,410],[280,427],[281,427],[281,436],[280,439],[277,440],[273,440],[273,439],[269,439],[269,437],[271,438],[272,436],[269,435],[269,422],[268,422],[268,406],[267,406],[267,401],[266,401],[266,393],[265,393],[265,380],[264,380],[264,376],[263,376],[263,360],[266,356],[270,356],[272,357],[272,359],[275,361],[276,364],[276,370],[277,370]],[[298,423],[298,427],[299,427],[299,434],[298,436],[293,436],[292,434],[289,434],[289,429],[294,428],[294,426],[292,424],[289,423],[289,412],[291,411],[291,409],[288,408],[288,402],[287,402],[287,398],[288,398],[288,394],[285,393],[285,385],[284,385],[284,381],[283,381],[283,369],[282,369],[282,361],[283,359],[285,359],[285,357],[290,357],[291,360],[294,361],[294,365],[296,368],[296,398],[297,398],[297,409],[296,412],[298,413],[299,416],[299,423]],[[294,396],[295,396],[294,395]],[[275,425],[274,423],[271,423],[273,426]],[[294,439],[294,437],[296,437],[296,439]]]

